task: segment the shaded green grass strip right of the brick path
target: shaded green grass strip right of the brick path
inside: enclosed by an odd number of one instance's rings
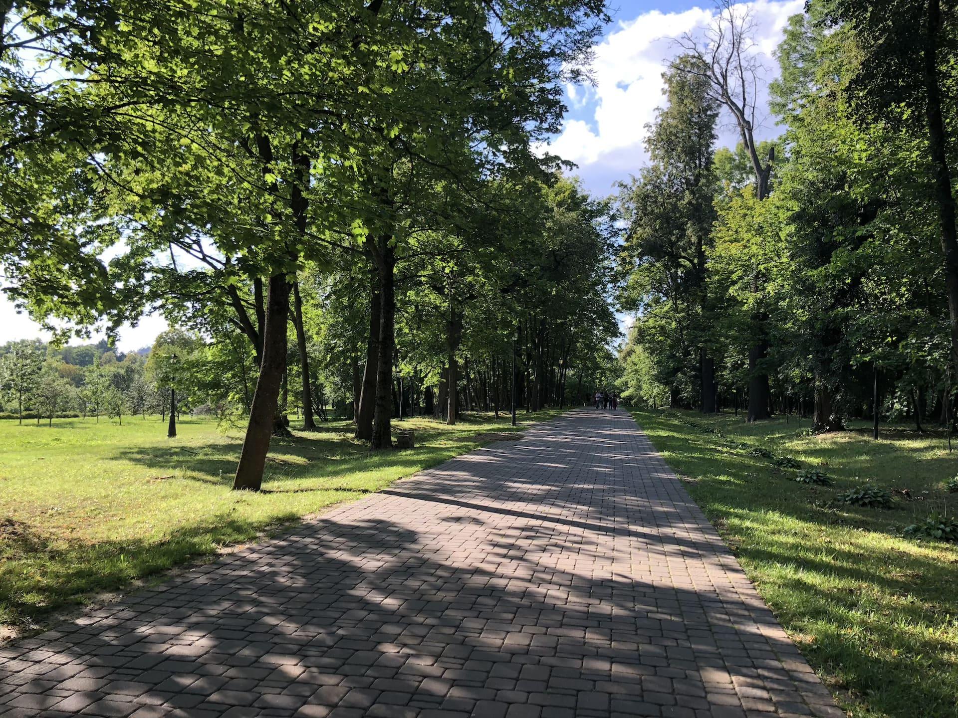
[[[682,413],[722,438],[675,414],[635,417],[850,715],[958,716],[958,546],[901,537],[933,510],[958,513],[946,487],[958,451],[947,453],[944,434],[899,427],[874,441],[861,424],[810,437],[794,416],[746,425]],[[834,485],[789,481],[796,471],[730,439],[820,467]],[[895,490],[896,507],[830,505],[866,481]]]

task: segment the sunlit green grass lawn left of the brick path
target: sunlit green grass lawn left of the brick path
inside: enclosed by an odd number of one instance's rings
[[[556,414],[520,413],[516,429]],[[399,427],[416,430],[415,449],[371,453],[346,421],[274,438],[263,491],[251,493],[230,490],[241,433],[221,433],[213,419],[184,418],[174,439],[157,416],[123,426],[0,421],[0,626],[29,628],[93,592],[380,490],[488,441],[485,433],[512,430],[508,415],[491,414]]]

